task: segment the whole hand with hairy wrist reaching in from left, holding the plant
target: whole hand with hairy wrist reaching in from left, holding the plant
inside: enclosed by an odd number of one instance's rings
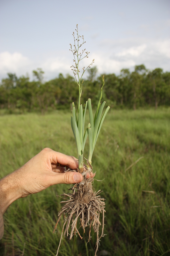
[[[64,172],[68,167],[72,170],[78,168],[76,158],[44,148],[21,168],[0,180],[2,213],[20,197],[38,193],[54,184],[71,184],[83,180],[81,173]]]

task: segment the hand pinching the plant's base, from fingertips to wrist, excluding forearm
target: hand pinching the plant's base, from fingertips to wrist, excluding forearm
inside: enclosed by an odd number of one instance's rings
[[[55,184],[71,184],[83,180],[83,176],[78,172],[64,172],[66,170],[64,166],[76,170],[78,162],[72,156],[44,148],[18,169],[19,176],[21,175],[19,179],[22,197],[38,193]]]

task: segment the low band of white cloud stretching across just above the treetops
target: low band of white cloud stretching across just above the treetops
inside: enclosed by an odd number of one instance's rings
[[[107,47],[106,47],[107,46]],[[71,53],[68,51],[51,52],[49,55],[42,55],[41,59],[35,56],[29,60],[19,52],[0,53],[0,79],[8,72],[16,73],[17,76],[25,75],[32,70],[42,68],[45,71],[45,80],[53,79],[59,73],[73,76],[70,66],[73,64]],[[170,40],[128,38],[121,40],[107,40],[101,42],[90,52],[89,58],[80,62],[82,67],[87,67],[92,60],[98,68],[98,75],[103,73],[119,74],[122,68],[133,70],[135,65],[144,64],[146,68],[163,68],[170,70]],[[87,72],[86,72],[87,73]],[[86,76],[86,75],[85,75]]]

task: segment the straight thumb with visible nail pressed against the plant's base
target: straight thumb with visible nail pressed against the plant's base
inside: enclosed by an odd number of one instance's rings
[[[81,173],[78,172],[63,172],[63,173],[56,173],[55,174],[55,179],[52,180],[52,185],[55,184],[73,184],[73,183],[79,183],[83,180],[83,176]]]

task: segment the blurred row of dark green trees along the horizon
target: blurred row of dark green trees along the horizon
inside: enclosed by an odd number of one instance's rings
[[[48,109],[70,108],[78,102],[78,85],[75,78],[59,74],[55,79],[44,82],[41,68],[33,70],[33,81],[29,76],[17,77],[8,73],[0,83],[0,108],[41,111]],[[148,70],[137,65],[134,71],[122,69],[120,75],[103,74],[105,86],[103,100],[115,108],[133,108],[170,106],[170,72],[161,68]],[[89,68],[83,82],[81,103],[92,98],[97,105],[102,86],[102,76],[97,76],[97,68]]]

